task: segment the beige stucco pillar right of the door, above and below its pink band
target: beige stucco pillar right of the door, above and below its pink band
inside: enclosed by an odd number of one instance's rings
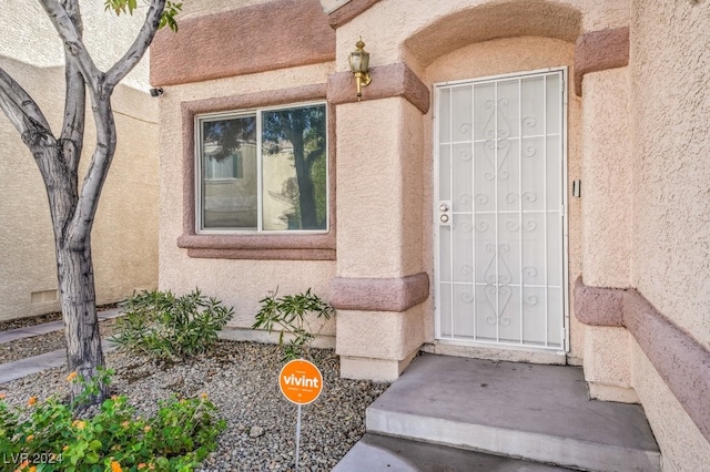
[[[626,288],[631,283],[633,222],[629,70],[586,74],[582,86],[584,281],[595,287]],[[631,386],[627,329],[588,326],[584,330],[585,378],[591,397],[638,402]]]

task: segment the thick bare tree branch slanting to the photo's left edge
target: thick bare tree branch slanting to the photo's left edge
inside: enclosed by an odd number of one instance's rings
[[[23,138],[27,133],[52,134],[37,103],[2,68],[0,68],[0,107]]]

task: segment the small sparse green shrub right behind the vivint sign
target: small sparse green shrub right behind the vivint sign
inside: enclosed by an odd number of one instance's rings
[[[323,301],[317,295],[311,293],[286,295],[276,298],[276,291],[272,291],[268,296],[258,301],[262,307],[256,314],[256,322],[252,325],[254,329],[267,329],[268,332],[274,330],[274,326],[281,327],[278,345],[284,346],[284,336],[290,334],[288,345],[284,348],[284,359],[298,359],[311,357],[311,343],[315,340],[320,332],[313,332],[308,322],[307,315],[314,314],[317,319],[329,319],[333,314],[333,307]],[[321,327],[323,324],[321,324]]]

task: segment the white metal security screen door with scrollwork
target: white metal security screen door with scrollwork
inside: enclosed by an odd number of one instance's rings
[[[565,72],[436,90],[436,336],[566,349]]]

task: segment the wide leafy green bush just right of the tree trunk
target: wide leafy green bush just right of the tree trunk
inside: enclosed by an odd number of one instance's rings
[[[125,315],[110,338],[119,349],[162,360],[193,357],[217,341],[217,332],[234,315],[199,289],[175,297],[172,291],[142,291],[121,304]]]

